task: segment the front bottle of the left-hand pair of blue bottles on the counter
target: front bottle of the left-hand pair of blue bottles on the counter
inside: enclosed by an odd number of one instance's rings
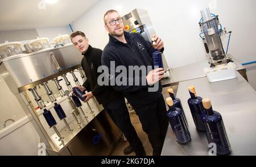
[[[169,106],[167,117],[172,127],[172,131],[174,132],[176,141],[180,144],[187,144],[189,141],[191,141],[191,136],[189,134],[189,130],[185,123],[181,109],[175,108],[171,97],[168,97],[166,102]]]

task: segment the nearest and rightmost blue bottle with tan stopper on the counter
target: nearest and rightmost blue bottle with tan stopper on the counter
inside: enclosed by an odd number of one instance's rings
[[[231,148],[221,114],[212,109],[212,104],[207,98],[203,99],[203,106],[204,112],[201,117],[208,143],[216,144],[217,155],[228,155]]]

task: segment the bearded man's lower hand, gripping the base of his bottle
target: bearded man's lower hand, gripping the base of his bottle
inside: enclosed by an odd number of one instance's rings
[[[156,68],[155,70],[150,71],[146,78],[148,85],[154,85],[156,82],[163,78],[164,70],[163,68]]]

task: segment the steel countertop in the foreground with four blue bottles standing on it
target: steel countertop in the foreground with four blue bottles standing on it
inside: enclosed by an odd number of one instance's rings
[[[229,142],[231,155],[256,155],[256,92],[237,72],[237,78],[209,83],[207,78],[197,78],[179,83],[177,97],[181,100],[188,119],[191,142],[180,145],[176,142],[171,126],[168,126],[162,155],[208,155],[208,141],[204,132],[198,132],[193,123],[187,100],[188,87],[196,87],[197,96],[208,97],[213,110],[221,113]],[[167,97],[167,91],[163,94]]]

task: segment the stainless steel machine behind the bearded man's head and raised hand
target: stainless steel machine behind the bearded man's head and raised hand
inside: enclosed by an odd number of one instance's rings
[[[141,33],[146,41],[151,42],[152,35],[155,35],[156,33],[150,20],[150,16],[146,10],[135,8],[133,11],[124,15],[122,18],[126,32]],[[162,54],[162,59],[164,71],[167,71],[169,67],[164,54]]]

